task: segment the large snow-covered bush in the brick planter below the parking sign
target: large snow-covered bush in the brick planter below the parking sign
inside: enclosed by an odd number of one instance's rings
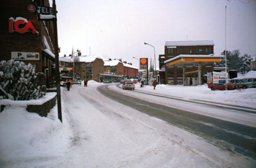
[[[45,95],[45,75],[20,61],[0,62],[0,99],[32,100]]]

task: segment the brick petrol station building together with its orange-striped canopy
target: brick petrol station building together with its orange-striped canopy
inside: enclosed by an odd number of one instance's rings
[[[164,70],[162,81],[171,85],[203,84],[204,75],[213,72],[214,63],[221,57],[214,55],[212,40],[166,42],[164,55],[159,56],[159,68]]]

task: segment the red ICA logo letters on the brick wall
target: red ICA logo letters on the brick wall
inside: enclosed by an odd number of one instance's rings
[[[17,17],[16,19],[11,17],[9,19],[9,32],[13,33],[13,31],[17,31],[19,33],[32,32],[38,34],[31,21],[24,19],[23,17]]]

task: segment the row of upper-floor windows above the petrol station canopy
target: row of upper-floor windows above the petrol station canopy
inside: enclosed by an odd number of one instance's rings
[[[194,52],[193,52],[192,48],[186,48],[186,52],[184,52],[183,48],[178,48],[178,49],[176,49],[176,51],[177,51],[177,56],[179,56],[180,54],[193,54],[193,53],[195,53],[197,55],[203,54],[202,47],[196,48],[196,50]],[[168,56],[174,56],[174,52],[175,52],[175,49],[167,49]],[[212,54],[212,48],[210,48],[210,47],[204,48],[204,54],[206,54],[206,55]]]

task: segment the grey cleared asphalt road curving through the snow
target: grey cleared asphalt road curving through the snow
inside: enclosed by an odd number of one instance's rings
[[[109,91],[109,88],[106,86],[100,86],[97,89],[102,95],[116,102],[120,102],[150,116],[163,119],[171,125],[196,134],[220,148],[256,159],[255,127],[223,121],[161,104],[147,102],[131,96],[121,95],[116,91]],[[156,98],[159,97],[156,96]],[[219,107],[212,108],[218,111]]]

